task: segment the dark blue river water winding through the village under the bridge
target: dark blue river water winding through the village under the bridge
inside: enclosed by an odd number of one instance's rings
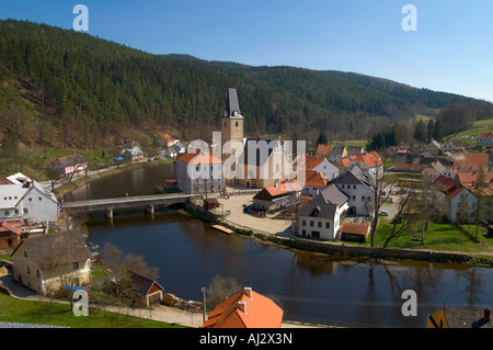
[[[175,177],[174,165],[146,167],[102,178],[66,195],[66,201],[149,194]],[[392,261],[371,263],[262,245],[221,234],[175,211],[95,214],[88,241],[103,249],[142,256],[159,269],[165,292],[202,300],[200,289],[216,275],[232,276],[272,297],[285,318],[348,327],[425,327],[439,307],[492,307],[493,269],[459,264]],[[402,307],[416,293],[416,316]]]

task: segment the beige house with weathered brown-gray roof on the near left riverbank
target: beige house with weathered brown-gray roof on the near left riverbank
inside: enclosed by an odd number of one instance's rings
[[[91,281],[91,251],[79,229],[24,238],[12,263],[14,280],[43,295]]]

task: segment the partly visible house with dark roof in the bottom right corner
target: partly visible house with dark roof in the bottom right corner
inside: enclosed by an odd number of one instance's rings
[[[426,317],[426,328],[493,328],[490,309],[440,307]]]

